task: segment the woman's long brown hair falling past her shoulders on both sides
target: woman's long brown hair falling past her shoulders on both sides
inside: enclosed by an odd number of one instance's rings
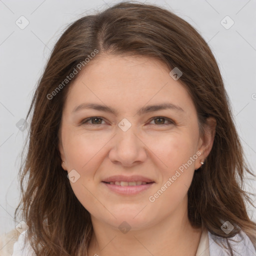
[[[209,46],[189,23],[169,10],[122,2],[79,18],[64,31],[34,92],[26,116],[28,119],[32,113],[15,219],[21,209],[37,255],[84,255],[91,239],[89,212],[74,195],[61,167],[58,132],[68,87],[77,75],[63,81],[79,63],[86,68],[84,59],[95,49],[97,55],[150,56],[169,70],[178,67],[182,71],[179,81],[196,107],[200,134],[207,117],[213,116],[217,122],[212,149],[195,171],[188,190],[189,221],[197,227],[203,224],[221,237],[232,237],[241,229],[256,244],[256,223],[249,219],[245,207],[245,201],[251,200],[242,188],[244,172],[253,173],[245,163],[229,99]],[[229,234],[220,229],[226,220],[234,226]]]

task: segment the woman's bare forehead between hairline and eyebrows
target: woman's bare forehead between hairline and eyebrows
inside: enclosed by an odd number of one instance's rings
[[[126,110],[161,102],[193,107],[185,87],[169,72],[164,63],[151,57],[97,56],[68,88],[65,105],[68,111],[81,103]]]

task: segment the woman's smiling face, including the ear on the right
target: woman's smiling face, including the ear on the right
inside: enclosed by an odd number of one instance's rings
[[[92,220],[116,228],[184,215],[214,132],[199,137],[192,99],[158,60],[97,57],[70,86],[59,133],[62,167],[77,199]]]

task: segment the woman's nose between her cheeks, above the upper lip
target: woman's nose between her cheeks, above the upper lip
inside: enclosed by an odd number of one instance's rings
[[[126,131],[117,128],[108,154],[113,163],[131,167],[145,161],[147,147],[136,133],[132,126]]]

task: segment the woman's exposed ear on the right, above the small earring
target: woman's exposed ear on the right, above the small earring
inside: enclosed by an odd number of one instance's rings
[[[204,162],[205,158],[210,153],[213,145],[215,131],[216,131],[216,119],[212,116],[206,119],[206,123],[203,125],[204,134],[199,138],[197,150],[201,152],[201,155],[197,158],[195,163],[195,169],[198,169]]]

